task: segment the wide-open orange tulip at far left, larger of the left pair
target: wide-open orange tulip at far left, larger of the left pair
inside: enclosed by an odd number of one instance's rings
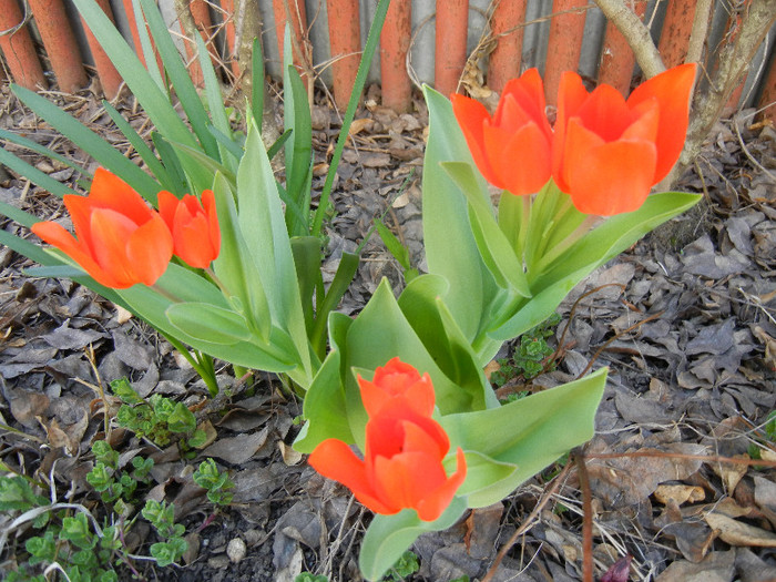
[[[153,285],[173,255],[173,237],[162,217],[129,184],[103,169],[88,196],[65,195],[75,237],[54,222],[32,232],[78,263],[105,287]]]

